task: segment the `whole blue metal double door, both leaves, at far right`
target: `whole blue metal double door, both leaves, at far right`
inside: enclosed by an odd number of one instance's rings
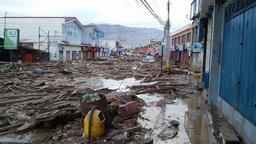
[[[256,125],[256,6],[224,23],[219,95]]]

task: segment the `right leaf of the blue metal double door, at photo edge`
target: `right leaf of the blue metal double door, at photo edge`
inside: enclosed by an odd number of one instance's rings
[[[256,123],[256,7],[244,12],[244,37],[238,109]]]

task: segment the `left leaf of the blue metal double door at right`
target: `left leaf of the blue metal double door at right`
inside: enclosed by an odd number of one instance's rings
[[[224,23],[220,97],[233,107],[239,98],[243,19],[244,14],[240,14]]]

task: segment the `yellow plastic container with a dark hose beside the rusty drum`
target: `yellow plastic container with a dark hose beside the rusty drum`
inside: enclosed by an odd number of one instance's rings
[[[89,115],[91,111],[88,112],[86,117],[84,118],[84,134],[88,138],[88,128],[89,128]],[[105,117],[103,113],[98,110],[93,110],[93,115],[91,118],[91,140],[102,136],[105,132]]]

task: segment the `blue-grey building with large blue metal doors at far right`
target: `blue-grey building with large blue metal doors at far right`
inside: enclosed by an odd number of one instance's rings
[[[256,0],[202,1],[214,1],[209,104],[256,144]]]

